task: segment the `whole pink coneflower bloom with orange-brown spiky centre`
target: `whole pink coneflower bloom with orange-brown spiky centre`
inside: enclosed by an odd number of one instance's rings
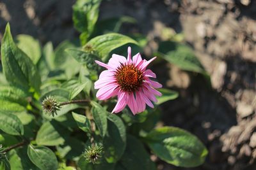
[[[131,47],[128,47],[128,57],[113,54],[108,64],[95,60],[97,64],[105,67],[94,84],[99,89],[96,97],[99,100],[106,100],[117,96],[117,103],[112,113],[124,110],[128,105],[132,113],[140,113],[146,109],[146,104],[154,108],[151,101],[157,102],[156,96],[162,94],[156,89],[162,85],[150,78],[156,78],[156,74],[147,69],[148,64],[156,57],[145,60],[141,59],[140,53],[131,58]]]

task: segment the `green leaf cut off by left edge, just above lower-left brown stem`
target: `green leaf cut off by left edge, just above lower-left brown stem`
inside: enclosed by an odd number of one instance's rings
[[[0,112],[0,129],[7,134],[23,135],[24,129],[21,121],[12,113]]]

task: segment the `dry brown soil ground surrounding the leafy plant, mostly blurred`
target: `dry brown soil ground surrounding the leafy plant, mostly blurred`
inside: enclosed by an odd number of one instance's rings
[[[30,34],[58,45],[78,33],[72,26],[72,4],[61,0],[1,0],[0,38],[6,22],[13,35]],[[163,124],[182,127],[200,138],[209,156],[204,170],[256,169],[256,1],[250,0],[109,0],[100,18],[127,15],[125,33],[140,32],[152,55],[164,40],[163,29],[184,32],[186,42],[211,74],[212,88],[200,74],[180,71],[166,62],[153,69],[164,87],[180,97],[163,104]],[[168,72],[166,72],[168,71]],[[168,74],[166,74],[168,73]],[[158,169],[186,169],[157,160]]]

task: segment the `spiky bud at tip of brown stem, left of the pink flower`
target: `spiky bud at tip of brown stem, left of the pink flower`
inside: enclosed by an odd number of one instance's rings
[[[60,104],[52,96],[47,96],[42,102],[42,108],[47,115],[54,117],[57,115],[57,111],[60,110]]]

